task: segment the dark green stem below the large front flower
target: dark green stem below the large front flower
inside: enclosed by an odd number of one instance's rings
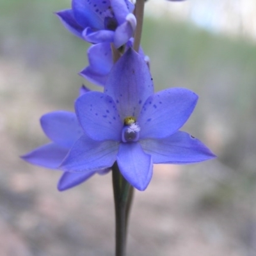
[[[115,256],[125,256],[128,216],[131,209],[133,188],[120,173],[117,163],[112,167],[112,178],[116,218]]]

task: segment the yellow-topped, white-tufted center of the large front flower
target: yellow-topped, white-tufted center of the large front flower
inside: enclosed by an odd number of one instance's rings
[[[138,141],[140,136],[140,126],[136,123],[133,116],[127,116],[124,119],[124,127],[122,129],[122,141]]]

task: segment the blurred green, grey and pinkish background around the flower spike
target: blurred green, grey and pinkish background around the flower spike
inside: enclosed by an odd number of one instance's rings
[[[148,0],[142,45],[156,90],[198,93],[182,128],[218,159],[156,165],[136,191],[127,256],[256,255],[256,2]],[[38,119],[73,110],[86,44],[54,12],[69,0],[0,1],[0,255],[114,255],[111,175],[65,192],[19,156],[47,142]]]

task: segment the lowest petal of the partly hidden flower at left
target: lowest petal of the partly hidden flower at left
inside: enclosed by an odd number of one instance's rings
[[[95,171],[89,171],[89,172],[82,172],[82,173],[74,173],[74,172],[65,172],[61,176],[59,182],[58,182],[58,190],[64,191],[70,188],[73,188],[85,180],[92,177],[93,174],[95,174]]]

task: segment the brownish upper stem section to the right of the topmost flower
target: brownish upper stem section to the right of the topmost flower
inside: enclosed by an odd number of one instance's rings
[[[142,26],[143,26],[144,4],[145,4],[145,0],[136,1],[135,17],[137,20],[137,25],[134,33],[134,43],[133,43],[133,48],[136,52],[138,52],[140,48],[140,40],[141,40],[141,33],[142,33]]]

